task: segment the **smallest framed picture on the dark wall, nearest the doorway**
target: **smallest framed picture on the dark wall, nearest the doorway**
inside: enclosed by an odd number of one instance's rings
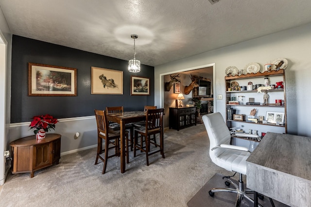
[[[145,77],[131,76],[131,96],[149,96],[150,79]]]

